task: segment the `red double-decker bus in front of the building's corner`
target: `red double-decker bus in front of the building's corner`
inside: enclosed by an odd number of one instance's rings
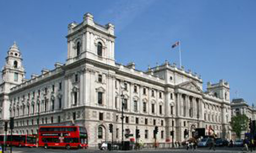
[[[39,128],[38,146],[87,148],[87,132],[79,126],[41,126]]]

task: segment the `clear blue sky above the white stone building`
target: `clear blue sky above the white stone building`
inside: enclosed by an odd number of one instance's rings
[[[225,79],[230,97],[256,102],[255,0],[2,0],[0,1],[0,66],[15,40],[27,78],[53,69],[67,57],[68,24],[91,12],[102,25],[115,25],[116,62],[135,62],[146,70],[165,60],[179,63],[206,83]],[[135,56],[136,55],[136,56]]]

